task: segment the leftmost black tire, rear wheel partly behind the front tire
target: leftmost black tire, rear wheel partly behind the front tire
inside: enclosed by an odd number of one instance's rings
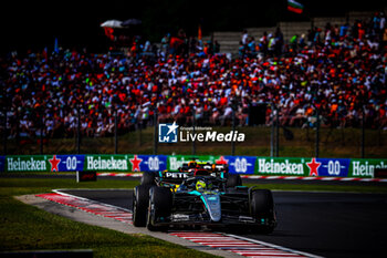
[[[146,226],[146,215],[149,204],[150,185],[139,185],[133,190],[133,225],[135,227]]]

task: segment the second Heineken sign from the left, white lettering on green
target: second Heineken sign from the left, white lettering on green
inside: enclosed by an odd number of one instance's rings
[[[87,171],[127,171],[126,159],[115,159],[113,156],[102,158],[101,156],[87,156]]]

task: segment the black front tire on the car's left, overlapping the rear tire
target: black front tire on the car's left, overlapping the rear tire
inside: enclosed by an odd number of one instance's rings
[[[170,216],[172,193],[169,188],[153,186],[149,190],[149,205],[146,227],[150,231],[165,231],[168,226],[157,226],[160,218]]]

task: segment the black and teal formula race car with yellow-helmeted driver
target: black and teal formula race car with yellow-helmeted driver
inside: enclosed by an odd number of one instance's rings
[[[163,175],[155,175],[151,182],[143,180],[133,193],[133,225],[149,230],[182,225],[273,231],[276,218],[269,189],[228,187],[224,175],[198,172],[176,180],[166,180]]]

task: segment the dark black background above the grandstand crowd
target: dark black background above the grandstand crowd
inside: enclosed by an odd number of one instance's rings
[[[106,20],[136,18],[143,21],[144,37],[159,42],[166,33],[187,35],[213,31],[241,31],[244,28],[275,27],[279,21],[306,21],[311,17],[343,17],[348,11],[373,11],[383,1],[300,1],[301,14],[289,12],[286,0],[143,0],[143,1],[28,1],[2,2],[0,51],[52,49],[55,39],[64,49],[87,48],[106,52],[109,41],[100,24]]]

